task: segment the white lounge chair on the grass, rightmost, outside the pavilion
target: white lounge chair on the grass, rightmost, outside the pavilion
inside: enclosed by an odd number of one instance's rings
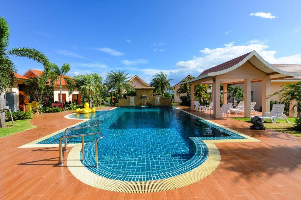
[[[271,112],[265,112],[263,116],[258,116],[258,117],[261,118],[262,122],[264,122],[265,119],[270,119],[272,123],[275,124],[277,122],[277,119],[285,119],[287,123],[290,123],[287,120],[286,115],[283,114],[283,112],[284,112],[284,104],[273,104]]]

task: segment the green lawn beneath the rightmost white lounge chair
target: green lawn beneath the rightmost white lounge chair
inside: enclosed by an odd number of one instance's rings
[[[232,119],[251,123],[250,118],[232,118]],[[290,123],[286,123],[284,119],[278,119],[276,124],[272,124],[270,120],[265,120],[264,127],[301,137],[301,131],[297,131],[293,129],[294,128],[293,124],[295,123],[296,118],[288,117],[287,119]]]

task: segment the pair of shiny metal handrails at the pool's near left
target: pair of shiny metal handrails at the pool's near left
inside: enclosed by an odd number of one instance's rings
[[[94,125],[96,123],[96,125]],[[59,139],[59,149],[60,149],[60,156],[59,156],[59,160],[58,160],[58,165],[63,165],[64,164],[64,160],[63,160],[63,146],[62,146],[62,140],[65,139],[65,151],[68,151],[67,150],[67,138],[73,138],[73,137],[82,137],[82,160],[84,161],[85,158],[84,158],[84,136],[89,136],[89,135],[92,135],[93,136],[93,142],[94,142],[94,135],[95,134],[99,134],[100,137],[97,138],[95,140],[95,155],[97,155],[97,142],[98,140],[100,139],[103,139],[104,138],[104,135],[100,132],[99,130],[99,121],[93,123],[93,125],[90,125],[90,126],[84,126],[84,127],[71,127],[71,128],[67,128],[65,130],[65,136],[61,136],[60,139]],[[81,128],[87,128],[87,127],[92,127],[92,133],[82,133],[82,134],[76,134],[76,135],[70,135],[70,136],[67,136],[67,130],[73,130],[73,129],[81,129]],[[97,128],[97,131],[98,132],[95,132],[94,133],[94,127]],[[95,167],[98,167],[98,159],[97,157],[95,157]]]

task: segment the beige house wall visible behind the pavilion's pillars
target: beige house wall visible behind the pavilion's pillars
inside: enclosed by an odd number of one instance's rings
[[[270,93],[273,94],[282,89],[281,85],[292,83],[292,82],[273,82],[271,81],[271,89]],[[244,88],[244,84],[235,84],[234,87],[240,86]],[[262,82],[254,82],[251,84],[251,91],[253,91],[253,101],[256,102],[254,108],[259,110],[262,106]],[[279,97],[277,95],[269,98],[271,101],[279,101]]]

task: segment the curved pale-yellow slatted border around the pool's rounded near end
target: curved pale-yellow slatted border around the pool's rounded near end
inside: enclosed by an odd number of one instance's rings
[[[80,158],[81,145],[75,145],[68,154],[67,166],[70,172],[83,183],[113,192],[150,193],[173,190],[193,184],[209,174],[219,166],[221,155],[213,143],[206,143],[209,151],[207,160],[195,169],[171,178],[154,181],[119,181],[104,178],[89,171],[82,165]]]

